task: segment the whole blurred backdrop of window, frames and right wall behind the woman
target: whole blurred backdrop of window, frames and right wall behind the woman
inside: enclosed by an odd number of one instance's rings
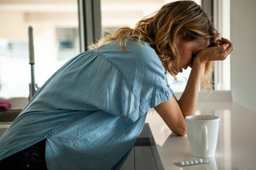
[[[72,57],[106,33],[133,28],[146,15],[174,0],[0,0],[0,99],[28,97],[28,26],[33,27],[38,87]],[[215,62],[217,99],[232,100],[256,112],[256,13],[254,0],[195,0],[213,17],[215,28],[235,44],[224,62]],[[91,27],[91,28],[90,28]],[[92,31],[92,30],[96,30]],[[91,33],[92,32],[92,33]],[[167,75],[174,92],[183,92],[190,69]],[[200,97],[199,97],[200,98]]]

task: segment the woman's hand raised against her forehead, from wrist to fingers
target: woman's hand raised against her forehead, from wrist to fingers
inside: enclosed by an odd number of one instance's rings
[[[234,44],[223,37],[221,37],[221,40],[218,40],[218,42],[218,47],[207,47],[200,50],[200,52],[195,56],[194,62],[205,64],[209,61],[225,60],[234,50]]]

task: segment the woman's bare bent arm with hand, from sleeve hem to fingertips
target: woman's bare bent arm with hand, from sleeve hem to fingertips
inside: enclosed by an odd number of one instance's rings
[[[195,115],[202,66],[208,61],[225,60],[233,51],[233,43],[225,38],[222,38],[222,42],[223,45],[220,47],[208,47],[198,52],[193,61],[185,90],[178,101],[175,99],[176,97],[172,97],[154,107],[173,133],[185,135],[186,122],[184,117]],[[229,44],[228,48],[225,47],[224,43]]]

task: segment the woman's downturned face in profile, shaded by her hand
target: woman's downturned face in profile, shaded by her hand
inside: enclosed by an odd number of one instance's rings
[[[197,52],[208,47],[210,43],[209,39],[197,39],[193,41],[185,41],[182,35],[178,37],[177,48],[179,52],[179,66],[178,66],[178,58],[173,62],[173,69],[179,73],[182,72],[183,69],[187,69],[187,67],[192,67],[193,59]]]

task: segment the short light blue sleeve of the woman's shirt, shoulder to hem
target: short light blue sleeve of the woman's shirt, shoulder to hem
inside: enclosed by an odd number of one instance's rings
[[[102,102],[108,112],[125,117],[128,123],[174,95],[158,55],[147,43],[142,47],[128,44],[128,51],[121,54],[100,55],[114,68],[108,72],[108,90]]]

